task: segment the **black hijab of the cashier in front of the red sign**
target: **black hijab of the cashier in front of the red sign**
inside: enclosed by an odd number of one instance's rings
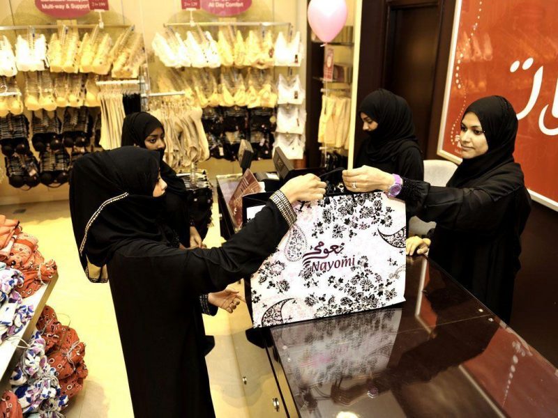
[[[513,160],[518,118],[511,103],[497,95],[472,102],[463,116],[469,112],[481,122],[488,151],[478,157],[462,160],[447,185],[478,187],[497,200],[524,185],[521,167]],[[492,181],[487,185],[490,178]]]

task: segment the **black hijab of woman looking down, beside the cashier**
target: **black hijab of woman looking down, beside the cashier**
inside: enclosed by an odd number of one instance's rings
[[[414,134],[413,114],[404,98],[379,88],[364,98],[360,113],[378,123],[375,130],[368,132],[370,138],[363,144],[370,160],[395,160],[410,147],[421,150]]]

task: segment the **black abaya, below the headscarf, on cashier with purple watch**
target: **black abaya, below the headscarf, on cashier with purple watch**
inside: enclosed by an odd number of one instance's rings
[[[477,188],[414,182],[414,212],[437,222],[429,257],[483,304],[508,322],[513,283],[520,269],[520,234],[531,209],[525,187],[494,201]]]

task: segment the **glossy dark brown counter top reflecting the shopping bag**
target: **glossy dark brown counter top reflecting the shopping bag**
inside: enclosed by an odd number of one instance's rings
[[[426,257],[405,280],[401,304],[269,330],[287,416],[557,413],[557,369],[508,325]]]

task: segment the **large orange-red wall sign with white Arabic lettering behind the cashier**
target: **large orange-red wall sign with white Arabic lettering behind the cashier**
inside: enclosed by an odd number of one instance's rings
[[[458,160],[467,105],[503,95],[518,113],[515,160],[534,199],[558,210],[558,2],[457,2],[438,153]]]

